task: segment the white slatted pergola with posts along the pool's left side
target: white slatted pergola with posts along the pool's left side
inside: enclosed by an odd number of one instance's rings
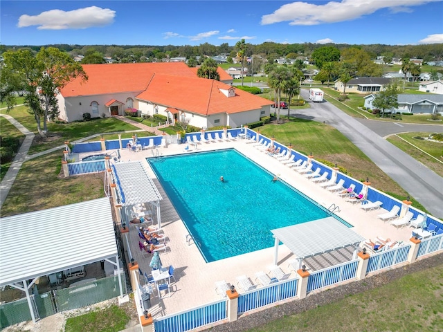
[[[112,167],[114,171],[112,174],[113,182],[117,184],[117,203],[122,206],[122,222],[129,223],[134,213],[132,209],[134,206],[149,204],[152,205],[152,208],[155,208],[152,217],[156,217],[160,228],[160,201],[163,198],[142,163],[140,161],[116,163]]]

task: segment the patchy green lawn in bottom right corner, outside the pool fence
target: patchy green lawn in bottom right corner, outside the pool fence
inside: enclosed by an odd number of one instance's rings
[[[443,331],[442,277],[443,265],[429,268],[248,332]]]

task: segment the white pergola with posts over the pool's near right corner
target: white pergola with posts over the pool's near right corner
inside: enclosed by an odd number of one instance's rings
[[[347,246],[358,246],[361,241],[365,240],[333,216],[277,228],[271,232],[275,238],[274,264],[278,261],[278,245],[281,241],[297,257],[299,268],[302,259]]]

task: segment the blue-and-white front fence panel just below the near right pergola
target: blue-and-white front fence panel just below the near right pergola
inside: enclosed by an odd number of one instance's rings
[[[358,264],[359,261],[355,259],[312,273],[307,281],[307,293],[355,278]]]

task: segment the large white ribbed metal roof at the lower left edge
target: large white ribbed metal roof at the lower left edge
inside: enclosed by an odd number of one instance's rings
[[[116,256],[109,198],[0,219],[0,286]]]

